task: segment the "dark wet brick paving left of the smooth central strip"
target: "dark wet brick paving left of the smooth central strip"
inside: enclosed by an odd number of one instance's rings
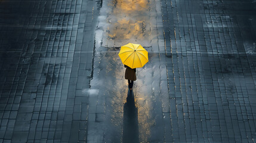
[[[95,6],[0,2],[0,142],[86,142]]]

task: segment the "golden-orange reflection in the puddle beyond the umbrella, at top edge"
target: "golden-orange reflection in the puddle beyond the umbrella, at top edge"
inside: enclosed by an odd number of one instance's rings
[[[113,10],[107,17],[109,39],[148,39],[150,35],[149,1],[112,1]]]

